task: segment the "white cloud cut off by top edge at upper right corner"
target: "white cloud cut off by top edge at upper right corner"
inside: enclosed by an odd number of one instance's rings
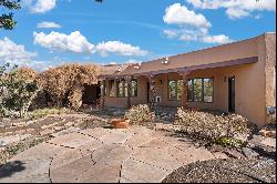
[[[230,19],[249,17],[254,11],[276,11],[276,0],[186,0],[198,9],[226,9]],[[255,17],[254,17],[255,18]]]

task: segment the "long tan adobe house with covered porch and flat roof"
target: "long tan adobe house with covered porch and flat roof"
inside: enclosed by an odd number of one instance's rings
[[[233,112],[264,125],[275,106],[276,33],[131,64],[101,75],[101,105]]]

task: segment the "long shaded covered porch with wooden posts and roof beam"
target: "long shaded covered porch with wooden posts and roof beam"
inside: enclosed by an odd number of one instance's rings
[[[131,108],[148,103],[152,108],[183,106],[236,113],[244,99],[240,86],[246,79],[243,73],[257,61],[254,57],[145,73],[126,69],[102,79],[101,106]],[[137,70],[140,65],[130,68]]]

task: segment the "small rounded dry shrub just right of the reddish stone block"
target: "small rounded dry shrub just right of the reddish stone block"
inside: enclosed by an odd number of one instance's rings
[[[124,117],[129,119],[131,124],[147,124],[154,122],[155,113],[147,104],[140,104],[127,110]]]

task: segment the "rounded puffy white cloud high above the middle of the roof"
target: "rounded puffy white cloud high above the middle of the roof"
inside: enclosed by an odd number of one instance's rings
[[[207,19],[194,11],[188,10],[181,3],[174,3],[165,9],[164,22],[168,24],[193,25],[198,28],[208,28],[211,23]]]

